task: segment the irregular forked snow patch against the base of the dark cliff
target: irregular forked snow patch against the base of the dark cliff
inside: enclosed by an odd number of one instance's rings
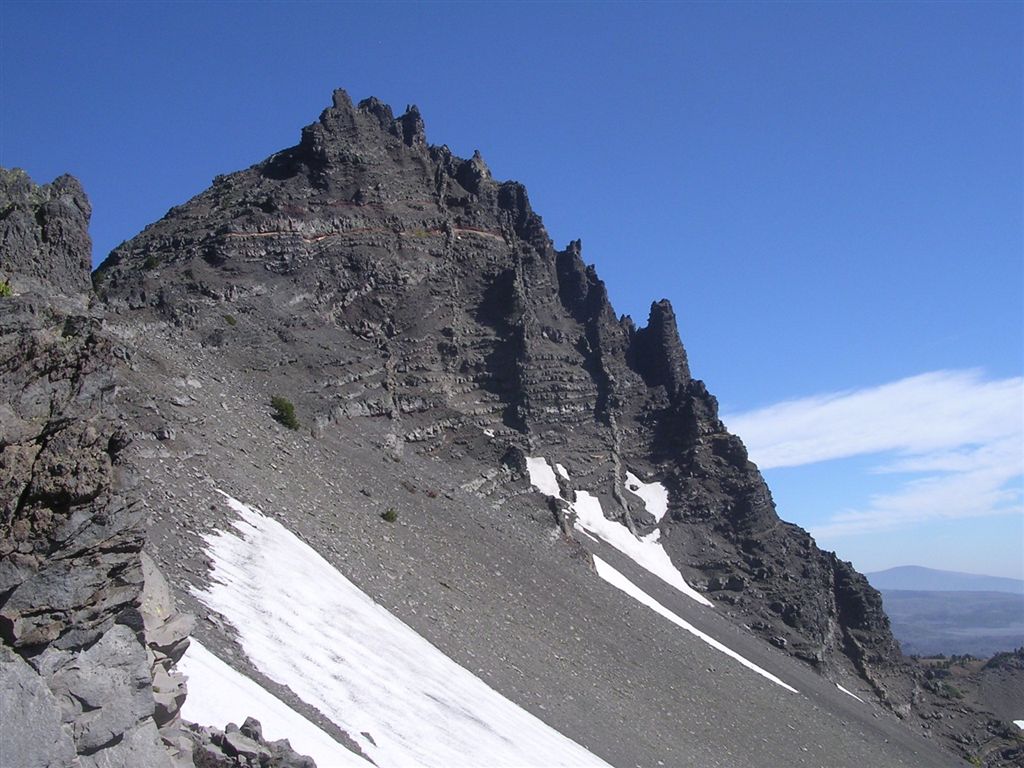
[[[565,468],[560,464],[556,465],[556,467],[559,474],[568,479],[568,472],[565,471]],[[529,481],[534,484],[534,487],[542,494],[561,497],[561,489],[558,487],[555,473],[552,471],[547,459],[543,457],[526,459],[526,469],[529,471]],[[643,499],[644,504],[648,505],[648,511],[660,519],[658,512],[660,515],[664,515],[669,504],[669,495],[665,486],[659,482],[641,482],[631,472],[627,472],[626,477],[628,482],[638,485],[640,489],[634,493]],[[650,486],[652,485],[657,485],[660,490],[656,488],[651,489]],[[663,494],[664,509],[659,506]],[[601,511],[601,502],[596,496],[586,490],[578,490],[575,497],[577,500],[572,504],[572,511],[575,513],[573,527],[577,530],[598,537],[641,567],[649,570],[666,584],[675,587],[687,597],[696,600],[701,605],[707,605],[709,608],[715,607],[711,600],[690,587],[679,572],[679,569],[672,564],[669,554],[658,543],[658,540],[662,538],[660,530],[652,530],[647,536],[637,539],[630,532],[630,529],[626,525],[615,520],[609,520],[604,516],[604,512]],[[651,501],[648,501],[648,498]],[[653,508],[651,505],[653,505]]]

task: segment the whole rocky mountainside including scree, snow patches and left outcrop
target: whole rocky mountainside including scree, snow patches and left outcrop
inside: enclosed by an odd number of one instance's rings
[[[1024,758],[1021,666],[902,656],[673,307],[416,108],[336,91],[91,283],[77,181],[0,207],[5,766]]]

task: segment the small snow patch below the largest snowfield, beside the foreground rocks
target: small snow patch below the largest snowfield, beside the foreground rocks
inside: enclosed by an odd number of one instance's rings
[[[242,725],[247,717],[254,717],[263,726],[264,738],[268,741],[287,738],[293,750],[308,755],[318,766],[371,768],[370,763],[346,750],[329,733],[221,662],[196,638],[191,638],[177,668],[188,678],[188,695],[181,707],[185,720],[223,728],[228,723]]]

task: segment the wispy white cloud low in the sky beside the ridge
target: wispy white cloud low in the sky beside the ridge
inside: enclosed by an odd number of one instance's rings
[[[897,490],[812,527],[820,539],[934,519],[1024,514],[1024,379],[939,371],[725,417],[762,469],[879,456]]]

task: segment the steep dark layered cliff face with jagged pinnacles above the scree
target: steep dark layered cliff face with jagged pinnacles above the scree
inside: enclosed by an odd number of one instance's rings
[[[399,453],[551,456],[638,532],[653,520],[624,468],[656,478],[674,562],[757,633],[880,683],[898,657],[878,594],[779,521],[669,302],[643,328],[618,318],[581,244],[554,248],[522,185],[428,144],[415,108],[336,92],[297,146],[216,179],[96,283],[112,307],[261,358],[317,429],[380,416]]]

